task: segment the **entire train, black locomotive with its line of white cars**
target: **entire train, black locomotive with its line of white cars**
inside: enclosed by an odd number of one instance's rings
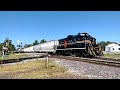
[[[57,55],[74,55],[82,57],[102,56],[102,47],[88,33],[68,35],[66,38],[52,40],[32,47],[24,48],[24,52],[47,52]]]

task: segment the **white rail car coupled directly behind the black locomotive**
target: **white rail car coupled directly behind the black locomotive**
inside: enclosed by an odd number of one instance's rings
[[[42,44],[34,46],[34,51],[36,52],[55,52],[56,46],[59,45],[59,41],[52,40]]]

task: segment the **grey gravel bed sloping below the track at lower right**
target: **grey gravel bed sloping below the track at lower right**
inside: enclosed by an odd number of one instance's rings
[[[120,79],[120,68],[52,58],[56,64],[65,67],[76,77],[88,77],[89,79]]]

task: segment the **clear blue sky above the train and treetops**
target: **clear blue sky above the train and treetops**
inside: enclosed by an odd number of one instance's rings
[[[97,41],[120,43],[120,11],[0,11],[0,43],[57,40],[87,32]]]

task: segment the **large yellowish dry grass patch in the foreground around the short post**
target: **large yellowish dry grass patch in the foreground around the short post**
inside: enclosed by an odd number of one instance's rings
[[[0,78],[12,79],[46,79],[51,77],[61,77],[69,75],[67,70],[49,62],[49,67],[45,67],[45,61],[37,60],[22,64],[8,65],[0,67]]]

